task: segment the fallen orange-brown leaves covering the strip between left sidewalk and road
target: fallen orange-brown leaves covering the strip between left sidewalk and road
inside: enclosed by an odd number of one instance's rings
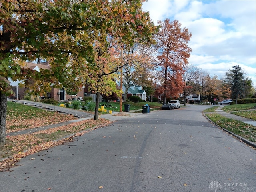
[[[46,150],[48,148],[52,148],[60,144],[64,144],[65,142],[70,142],[73,140],[74,137],[81,136],[86,132],[90,132],[99,127],[106,126],[110,123],[111,123],[110,120],[103,119],[103,118],[100,118],[99,120],[88,119],[88,120],[83,120],[79,122],[73,122],[71,124],[56,127],[56,128],[41,130],[31,134],[9,136],[8,138],[6,138],[6,140],[10,140],[11,142],[14,143],[14,146],[12,146],[11,148],[13,155],[1,161],[0,163],[1,171],[15,166],[15,164],[23,157],[26,157],[30,154],[34,154],[36,152],[40,152],[42,150]],[[72,132],[73,135],[68,138],[63,138],[57,141],[48,141],[48,140],[44,140],[42,138],[37,137],[38,134],[52,134],[60,130]],[[6,146],[6,145],[3,146],[3,148],[8,148],[8,147],[10,146]]]

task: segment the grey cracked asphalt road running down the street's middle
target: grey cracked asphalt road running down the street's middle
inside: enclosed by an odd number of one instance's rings
[[[208,122],[207,107],[126,117],[22,158],[0,190],[256,192],[256,150]]]

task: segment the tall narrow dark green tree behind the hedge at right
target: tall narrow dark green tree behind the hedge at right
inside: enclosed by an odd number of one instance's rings
[[[243,97],[243,72],[239,65],[233,66],[233,80],[231,86],[231,96],[236,100]]]

